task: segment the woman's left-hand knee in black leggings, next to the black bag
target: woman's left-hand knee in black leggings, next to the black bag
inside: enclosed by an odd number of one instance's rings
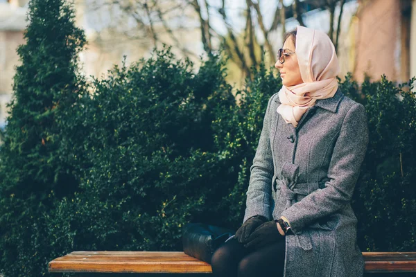
[[[211,258],[214,277],[237,277],[237,267],[241,259],[249,253],[235,238],[216,249]]]

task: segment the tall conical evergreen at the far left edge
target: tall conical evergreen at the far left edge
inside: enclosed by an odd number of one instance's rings
[[[62,254],[50,243],[44,215],[52,195],[77,190],[60,142],[85,84],[77,62],[85,37],[66,2],[31,1],[26,44],[17,49],[21,65],[0,146],[0,269],[8,277],[39,276]]]

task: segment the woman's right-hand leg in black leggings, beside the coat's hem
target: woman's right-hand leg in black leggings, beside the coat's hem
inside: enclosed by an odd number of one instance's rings
[[[239,262],[238,276],[283,276],[285,253],[285,240],[252,251]]]

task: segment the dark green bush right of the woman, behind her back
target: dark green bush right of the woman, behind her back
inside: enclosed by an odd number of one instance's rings
[[[383,76],[380,82],[365,80],[361,86],[370,130],[354,197],[362,251],[416,249],[414,82],[396,85]]]

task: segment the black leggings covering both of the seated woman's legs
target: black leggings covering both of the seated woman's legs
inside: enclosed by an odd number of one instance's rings
[[[215,277],[280,277],[283,276],[285,251],[285,240],[250,251],[233,238],[214,252],[212,273]]]

